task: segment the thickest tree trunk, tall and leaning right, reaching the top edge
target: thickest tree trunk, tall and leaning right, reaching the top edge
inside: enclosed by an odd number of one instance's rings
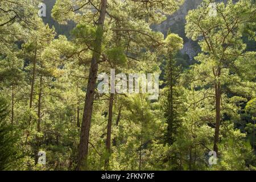
[[[104,21],[106,16],[107,0],[101,0],[100,18],[97,23],[96,41],[94,42],[94,52],[90,64],[89,80],[87,84],[84,113],[82,116],[82,126],[79,144],[79,154],[77,162],[77,170],[87,169],[88,143],[90,135],[90,123],[92,119],[92,109],[94,100],[94,89],[96,87],[98,61],[101,54],[101,42],[104,31]]]

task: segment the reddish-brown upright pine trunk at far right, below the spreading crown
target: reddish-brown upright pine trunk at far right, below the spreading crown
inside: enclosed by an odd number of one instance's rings
[[[218,78],[220,77],[221,69],[220,67],[217,68],[216,73],[214,75]],[[213,151],[218,154],[218,141],[220,135],[220,105],[221,105],[221,85],[220,81],[216,82],[214,85],[215,88],[215,105],[216,105],[216,124],[215,124],[215,134],[214,134],[214,144],[213,144]]]

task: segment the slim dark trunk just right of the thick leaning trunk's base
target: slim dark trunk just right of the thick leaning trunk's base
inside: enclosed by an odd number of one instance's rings
[[[106,137],[106,154],[107,157],[105,159],[105,170],[109,167],[109,157],[110,157],[110,146],[111,146],[111,127],[112,127],[112,114],[113,114],[113,101],[114,94],[110,94],[109,98],[109,118],[108,118],[108,126],[107,126],[107,137]]]

